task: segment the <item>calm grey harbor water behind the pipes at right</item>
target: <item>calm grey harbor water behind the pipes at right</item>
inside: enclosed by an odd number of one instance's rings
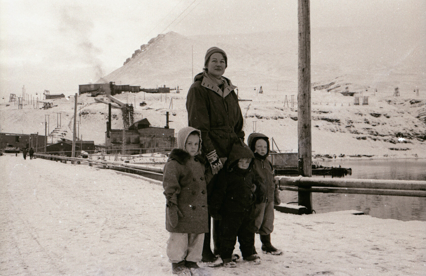
[[[426,159],[331,159],[319,163],[351,168],[352,174],[345,178],[426,180]],[[281,191],[280,197],[284,203],[297,202],[297,192]],[[312,206],[316,213],[357,210],[382,219],[426,221],[425,197],[312,193]]]

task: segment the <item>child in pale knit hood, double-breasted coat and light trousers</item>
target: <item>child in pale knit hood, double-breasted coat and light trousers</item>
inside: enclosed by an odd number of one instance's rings
[[[163,188],[166,196],[167,257],[172,273],[201,273],[204,233],[208,232],[206,158],[201,156],[201,132],[182,128],[174,148],[164,165]]]

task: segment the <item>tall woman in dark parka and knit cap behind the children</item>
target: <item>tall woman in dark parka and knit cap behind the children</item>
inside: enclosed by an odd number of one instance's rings
[[[222,75],[227,68],[227,55],[217,47],[207,50],[204,69],[194,78],[188,95],[186,108],[188,125],[201,131],[201,151],[207,156],[213,173],[207,183],[207,198],[216,185],[217,173],[223,168],[234,142],[244,140],[243,118],[234,92],[236,86]],[[219,221],[213,220],[214,253],[210,248],[210,231],[204,235],[203,262],[214,264],[219,254],[219,240],[216,229]],[[210,230],[210,216],[209,216]]]

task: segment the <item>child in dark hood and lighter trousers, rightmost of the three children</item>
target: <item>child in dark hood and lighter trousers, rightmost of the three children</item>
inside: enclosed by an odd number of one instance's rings
[[[260,176],[261,185],[266,193],[266,202],[256,204],[256,233],[260,235],[262,252],[280,255],[281,249],[276,249],[271,244],[273,231],[273,205],[279,205],[279,191],[274,179],[274,170],[271,161],[266,159],[269,155],[269,138],[261,133],[252,133],[248,136],[247,143],[254,153],[253,170]],[[267,191],[267,192],[266,192]]]

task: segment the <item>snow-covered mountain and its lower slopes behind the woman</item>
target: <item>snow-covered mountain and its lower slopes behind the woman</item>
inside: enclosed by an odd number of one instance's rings
[[[313,154],[426,157],[425,50],[414,34],[403,31],[377,30],[361,37],[356,29],[339,30],[311,31]],[[383,40],[383,36],[388,38]],[[374,43],[378,37],[386,43]],[[170,32],[141,46],[122,67],[99,82],[144,88],[179,86],[179,94],[117,95],[119,100],[135,104],[135,120],[144,117],[153,126],[163,127],[169,111],[170,128],[177,132],[187,125],[185,102],[193,75],[202,70],[207,48],[218,46],[228,56],[225,76],[238,86],[239,97],[248,100],[240,102],[247,136],[263,132],[273,137],[280,150],[296,150],[296,38],[294,31],[196,37]],[[257,93],[260,85],[263,94]],[[353,97],[340,93],[346,87],[358,92],[356,96],[367,96],[368,105],[354,105]],[[395,87],[399,87],[399,97],[393,96]],[[50,115],[53,139],[49,142],[57,137],[71,139],[73,98],[49,101],[57,106],[43,110],[24,104],[18,109],[13,103],[2,103],[2,131],[43,134],[45,115]],[[147,105],[139,106],[142,101]],[[52,131],[58,125],[59,112],[61,127]],[[79,136],[103,144],[107,112],[107,105],[82,94],[78,98]],[[112,128],[121,128],[120,110],[112,113]]]

